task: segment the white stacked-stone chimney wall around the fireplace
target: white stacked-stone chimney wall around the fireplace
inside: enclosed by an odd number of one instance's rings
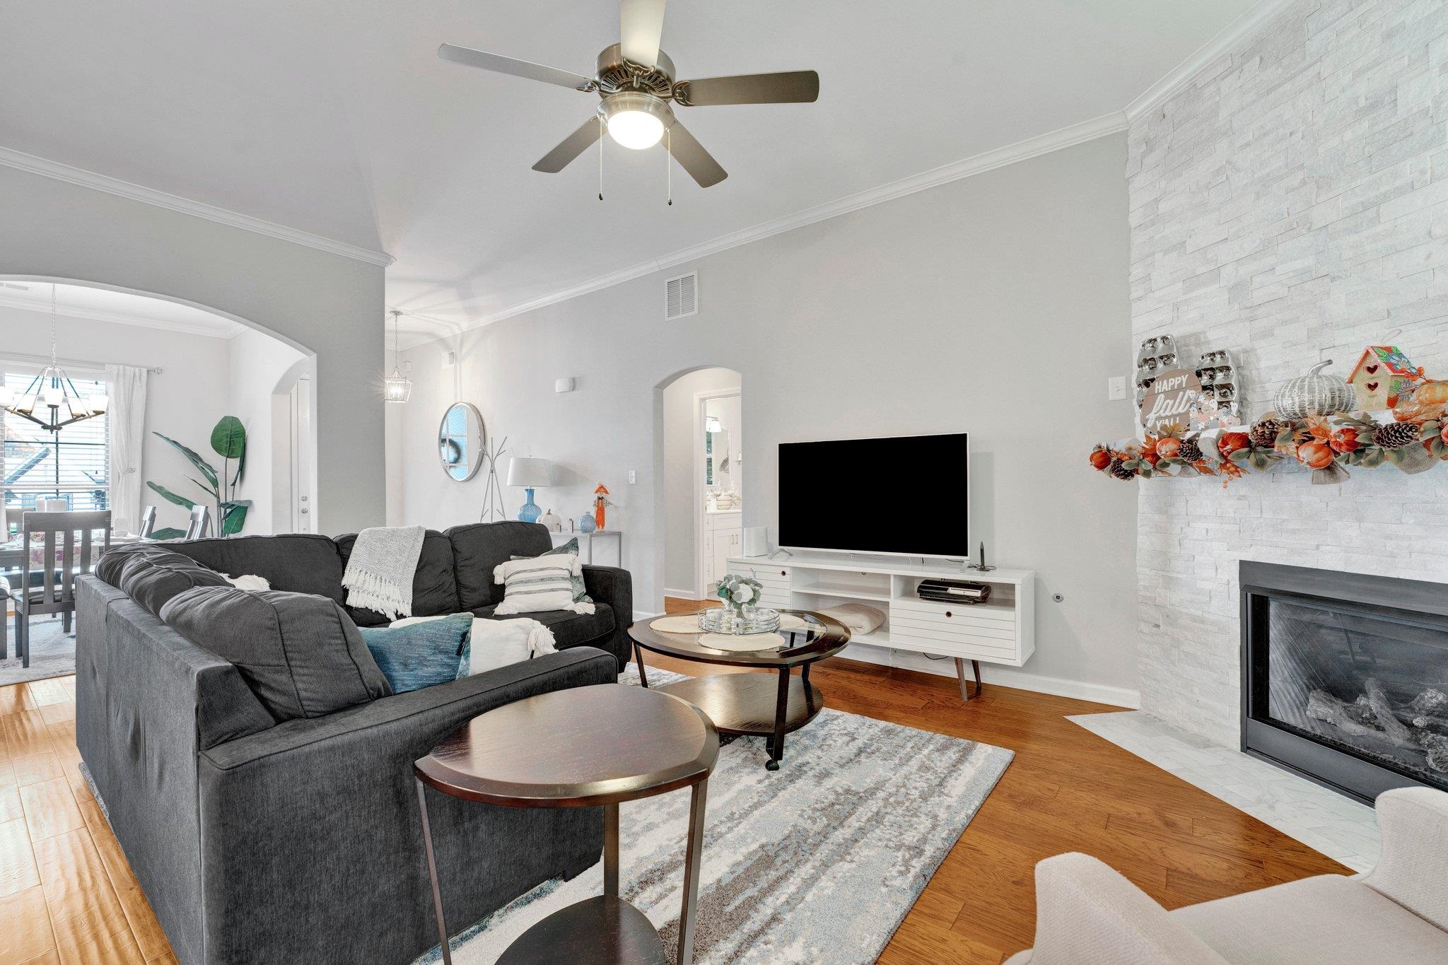
[[[1248,418],[1319,357],[1347,378],[1384,339],[1448,375],[1445,65],[1438,0],[1302,0],[1134,122],[1134,341],[1235,352]],[[1444,467],[1140,493],[1142,706],[1228,747],[1239,560],[1448,580]]]

